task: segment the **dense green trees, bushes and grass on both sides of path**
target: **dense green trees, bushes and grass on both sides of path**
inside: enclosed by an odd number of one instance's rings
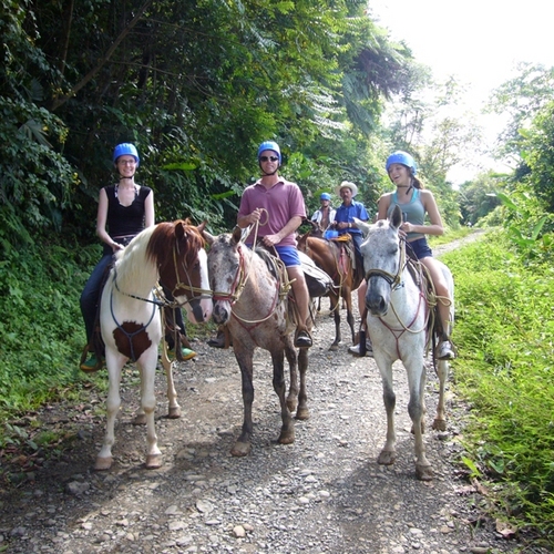
[[[513,171],[454,189],[449,170],[480,146],[471,117],[443,110],[460,85],[433,82],[367,2],[0,6],[2,488],[24,476],[25,453],[63,448],[14,418],[103,386],[78,371],[79,295],[101,252],[96,201],[115,144],[136,144],[157,220],[207,220],[213,233],[233,227],[264,140],[281,145],[309,213],[348,179],[375,214],[383,162],[407,150],[449,232],[495,228],[445,257],[461,353],[452,381],[472,407],[460,464],[493,491],[486,510],[554,544],[553,69],[522,64],[491,98],[510,115],[494,154]]]

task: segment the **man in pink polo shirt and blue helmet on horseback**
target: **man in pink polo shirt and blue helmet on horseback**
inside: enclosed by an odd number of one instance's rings
[[[246,228],[259,222],[258,238],[271,248],[287,268],[293,293],[300,316],[295,346],[311,347],[311,337],[306,327],[309,294],[296,248],[295,232],[306,218],[306,206],[300,188],[279,176],[281,164],[279,145],[273,141],[263,142],[258,148],[258,164],[261,178],[245,188],[238,208],[237,225]],[[252,246],[254,232],[246,239]]]

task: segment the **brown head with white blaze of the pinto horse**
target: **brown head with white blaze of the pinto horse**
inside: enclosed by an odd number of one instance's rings
[[[160,223],[147,247],[160,283],[172,291],[193,324],[208,320],[213,309],[203,229],[204,224],[194,227],[188,219]]]

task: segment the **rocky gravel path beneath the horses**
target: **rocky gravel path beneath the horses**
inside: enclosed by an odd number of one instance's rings
[[[63,430],[73,447],[18,489],[2,493],[0,552],[519,552],[522,543],[504,538],[481,514],[486,496],[456,465],[463,404],[449,392],[449,430],[425,435],[437,479],[417,481],[406,379],[398,365],[397,463],[378,465],[384,441],[378,370],[372,359],[349,356],[347,343],[329,352],[332,337],[332,320],[324,311],[309,358],[311,418],[296,422],[291,445],[274,442],[280,425],[278,401],[269,357],[257,352],[255,437],[247,458],[229,454],[242,424],[238,367],[230,350],[212,349],[204,341],[194,343],[198,356],[176,371],[179,420],[164,418],[165,380],[158,375],[156,428],[165,462],[161,470],[142,466],[145,430],[131,423],[137,406],[132,367],[124,375],[110,472],[92,471],[104,428],[103,398],[91,391],[82,406],[49,407],[32,414],[29,424]],[[428,428],[437,387],[430,371]]]

